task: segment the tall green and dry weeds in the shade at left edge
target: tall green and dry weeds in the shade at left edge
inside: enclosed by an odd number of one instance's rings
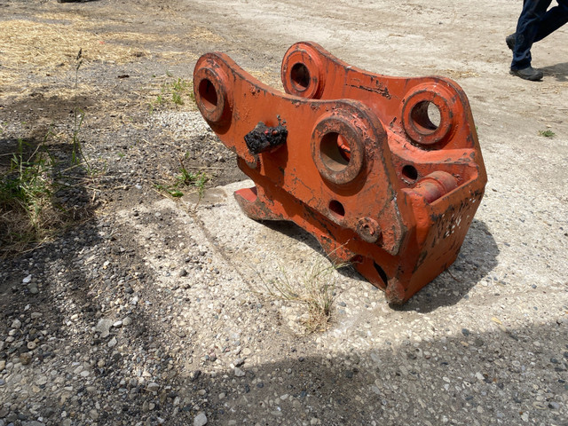
[[[9,153],[10,164],[0,171],[0,251],[4,256],[50,239],[83,214],[77,206],[65,208],[56,195],[64,187],[81,186],[77,184],[83,180],[81,172],[93,173],[80,140],[84,113],[77,107],[77,87],[82,63],[82,50],[79,50],[75,58],[73,132],[71,140],[66,138],[66,143],[61,144],[66,153],[67,144],[72,144],[69,158],[56,161],[56,156],[51,155],[48,142],[59,136],[50,128],[39,141],[19,138]],[[1,127],[4,133],[4,126]]]

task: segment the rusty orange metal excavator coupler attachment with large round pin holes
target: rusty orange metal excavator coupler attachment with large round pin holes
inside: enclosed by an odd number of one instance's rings
[[[287,94],[218,52],[195,66],[201,114],[255,182],[237,201],[406,302],[454,262],[483,197],[468,99],[449,79],[368,73],[316,43],[288,49],[282,83]]]

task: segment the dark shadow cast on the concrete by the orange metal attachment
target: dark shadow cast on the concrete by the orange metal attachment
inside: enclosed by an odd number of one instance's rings
[[[312,234],[307,233],[293,222],[263,221],[262,223],[273,231],[301,241],[322,256],[326,256]],[[422,288],[406,304],[393,307],[393,309],[432,312],[441,306],[457,304],[462,298],[467,298],[469,290],[493,270],[497,265],[497,255],[499,255],[499,248],[493,235],[484,222],[474,219],[454,264],[446,272],[442,272],[436,280]],[[369,287],[375,288],[353,268],[340,268],[337,272],[347,278],[367,282]]]

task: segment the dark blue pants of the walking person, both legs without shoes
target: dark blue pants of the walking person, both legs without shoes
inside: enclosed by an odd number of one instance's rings
[[[556,0],[558,5],[547,11],[552,0],[525,0],[518,18],[517,40],[511,69],[531,66],[531,47],[568,22],[568,0]]]

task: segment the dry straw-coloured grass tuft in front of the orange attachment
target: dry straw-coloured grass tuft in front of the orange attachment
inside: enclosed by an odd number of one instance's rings
[[[274,298],[304,305],[308,315],[303,322],[308,333],[325,331],[334,312],[336,270],[346,265],[327,264],[319,259],[299,278],[292,278],[279,268],[276,278],[268,282],[263,280],[264,287]]]

